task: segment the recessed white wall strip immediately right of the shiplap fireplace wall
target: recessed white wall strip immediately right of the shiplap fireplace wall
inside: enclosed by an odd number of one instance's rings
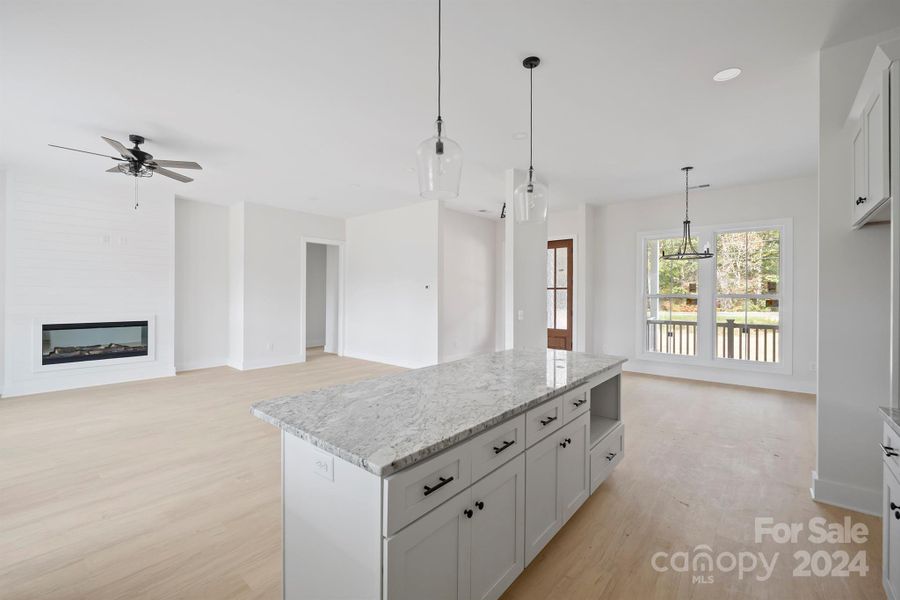
[[[229,210],[175,199],[175,368],[216,367],[229,352]]]

